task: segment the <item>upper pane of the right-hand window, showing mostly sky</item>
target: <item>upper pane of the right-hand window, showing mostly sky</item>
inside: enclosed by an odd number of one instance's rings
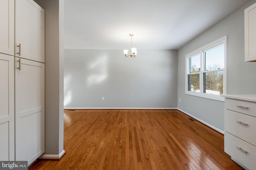
[[[224,68],[224,45],[210,49],[204,55],[205,71]]]

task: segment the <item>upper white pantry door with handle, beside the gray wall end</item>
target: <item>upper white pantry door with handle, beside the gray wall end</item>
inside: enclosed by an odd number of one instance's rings
[[[44,10],[33,0],[15,1],[15,56],[44,63]]]

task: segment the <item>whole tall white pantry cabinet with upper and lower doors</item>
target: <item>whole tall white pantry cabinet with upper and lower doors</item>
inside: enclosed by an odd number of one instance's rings
[[[44,10],[0,0],[0,11],[0,160],[29,165],[44,153]]]

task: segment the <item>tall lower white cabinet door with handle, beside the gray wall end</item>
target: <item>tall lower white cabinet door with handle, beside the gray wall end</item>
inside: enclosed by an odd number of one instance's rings
[[[15,63],[16,160],[31,164],[44,153],[44,63]]]

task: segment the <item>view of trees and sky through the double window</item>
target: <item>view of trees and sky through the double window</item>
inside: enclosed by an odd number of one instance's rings
[[[202,54],[202,56],[201,54],[194,55],[188,60],[188,91],[200,92],[200,81],[202,81],[203,93],[222,95],[224,44],[209,49]],[[204,63],[202,63],[203,70],[200,69],[202,59],[204,59]],[[200,75],[202,75],[202,80],[200,80]]]

